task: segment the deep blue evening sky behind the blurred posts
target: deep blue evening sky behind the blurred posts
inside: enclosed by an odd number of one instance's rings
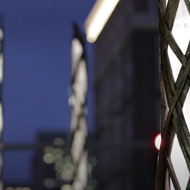
[[[5,15],[4,143],[34,143],[39,130],[69,130],[71,22],[82,28],[94,2],[0,0],[0,13]],[[87,50],[92,64],[89,44]],[[89,97],[91,105],[92,86]],[[29,180],[32,155],[5,152],[3,178]]]

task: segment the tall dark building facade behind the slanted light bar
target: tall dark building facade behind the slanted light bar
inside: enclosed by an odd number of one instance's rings
[[[159,132],[157,1],[120,0],[94,43],[98,190],[152,190]]]

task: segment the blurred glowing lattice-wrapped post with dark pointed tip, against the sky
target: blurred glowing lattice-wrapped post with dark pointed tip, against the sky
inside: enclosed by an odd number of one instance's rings
[[[74,24],[72,39],[71,96],[71,156],[74,167],[73,190],[84,190],[87,184],[87,64],[84,40],[79,28]]]

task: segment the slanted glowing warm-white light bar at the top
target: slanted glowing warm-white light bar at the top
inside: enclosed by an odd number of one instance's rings
[[[118,2],[119,0],[97,0],[85,21],[88,42],[96,41]]]

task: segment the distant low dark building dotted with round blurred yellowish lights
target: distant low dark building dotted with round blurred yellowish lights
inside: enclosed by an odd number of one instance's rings
[[[90,135],[89,138],[91,139],[92,136]],[[97,158],[93,156],[94,144],[90,139],[88,140],[90,147],[87,190],[93,190],[97,184],[92,176],[92,172],[96,171]],[[32,161],[32,190],[69,190],[73,166],[65,133],[62,131],[39,132],[37,143],[41,148],[36,151]]]

